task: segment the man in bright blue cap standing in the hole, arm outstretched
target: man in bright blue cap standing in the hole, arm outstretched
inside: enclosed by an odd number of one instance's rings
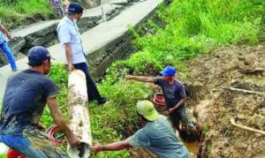
[[[186,92],[184,85],[174,79],[176,74],[176,69],[172,66],[166,66],[163,71],[161,71],[163,77],[149,78],[143,76],[131,76],[127,75],[126,79],[138,80],[140,82],[154,83],[162,88],[163,94],[165,96],[165,102],[167,103],[168,110],[165,111],[166,115],[170,115],[170,120],[173,126],[179,132],[179,120],[184,124],[195,130],[191,118],[186,113]],[[189,129],[188,129],[189,130]]]

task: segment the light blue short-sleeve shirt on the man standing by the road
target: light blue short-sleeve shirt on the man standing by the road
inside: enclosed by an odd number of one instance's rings
[[[65,16],[57,26],[57,33],[61,47],[64,51],[65,59],[65,43],[70,43],[72,50],[72,64],[86,63],[87,58],[83,50],[79,28],[76,23]]]

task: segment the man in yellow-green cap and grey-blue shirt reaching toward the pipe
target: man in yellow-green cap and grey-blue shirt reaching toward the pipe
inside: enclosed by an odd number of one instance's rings
[[[97,144],[92,151],[114,151],[130,147],[145,147],[160,158],[188,158],[186,147],[178,140],[166,117],[158,115],[152,102],[137,103],[140,123],[143,125],[133,136],[108,145]]]

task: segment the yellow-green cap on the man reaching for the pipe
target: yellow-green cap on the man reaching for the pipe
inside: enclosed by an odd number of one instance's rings
[[[158,117],[158,113],[155,110],[154,104],[150,101],[140,101],[137,102],[137,111],[138,113],[145,117],[148,121],[155,121]]]

